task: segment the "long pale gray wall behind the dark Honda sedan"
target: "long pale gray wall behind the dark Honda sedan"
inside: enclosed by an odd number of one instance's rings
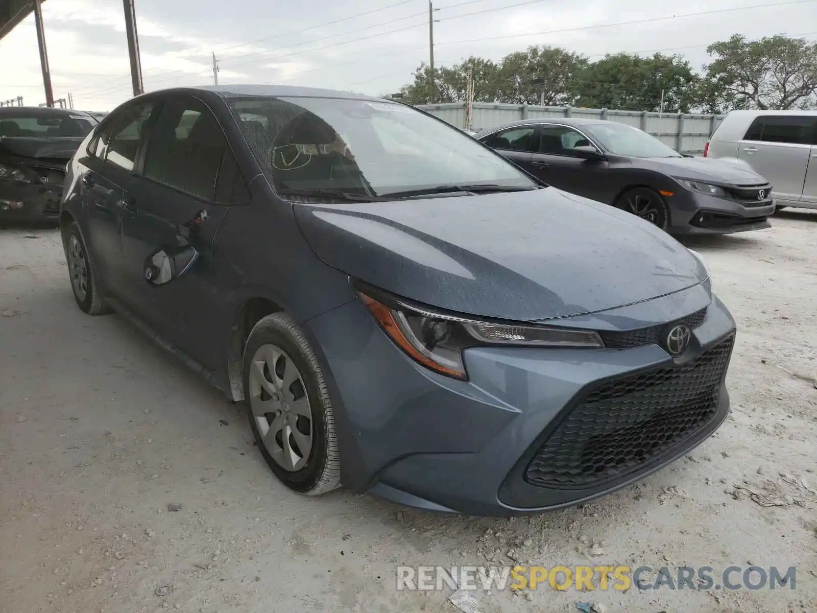
[[[418,105],[457,128],[465,128],[465,102],[440,105]],[[577,109],[565,106],[505,105],[493,102],[475,102],[472,130],[494,128],[519,119],[548,117],[587,117],[627,123],[659,138],[664,144],[681,153],[696,154],[715,132],[724,115],[651,113],[638,110]]]

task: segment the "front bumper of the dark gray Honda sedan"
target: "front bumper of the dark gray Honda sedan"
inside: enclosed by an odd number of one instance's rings
[[[717,198],[692,191],[683,196],[684,204],[672,208],[671,234],[732,234],[763,230],[771,227],[769,217],[775,213],[775,199],[771,196],[757,202]]]

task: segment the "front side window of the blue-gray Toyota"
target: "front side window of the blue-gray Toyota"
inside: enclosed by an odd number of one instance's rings
[[[208,202],[246,202],[248,195],[217,119],[201,102],[163,106],[145,157],[145,177]]]

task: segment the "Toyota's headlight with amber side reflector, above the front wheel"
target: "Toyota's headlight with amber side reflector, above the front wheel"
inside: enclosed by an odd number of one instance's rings
[[[592,330],[474,320],[409,304],[363,286],[358,295],[383,331],[408,356],[428,369],[462,380],[468,378],[462,362],[462,350],[467,347],[605,346],[599,333]]]

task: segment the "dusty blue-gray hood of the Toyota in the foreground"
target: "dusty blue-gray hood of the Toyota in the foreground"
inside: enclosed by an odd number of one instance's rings
[[[543,320],[592,313],[707,278],[663,230],[552,187],[293,206],[307,242],[328,265],[471,315]]]

